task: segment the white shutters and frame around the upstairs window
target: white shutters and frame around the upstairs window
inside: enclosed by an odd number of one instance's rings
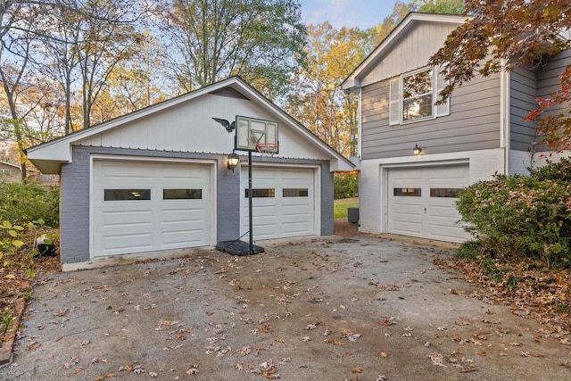
[[[446,86],[446,81],[444,80],[442,74],[440,74],[441,68],[433,67],[432,72],[432,93],[433,93],[433,104],[432,104],[432,115],[425,118],[418,118],[415,120],[403,120],[402,119],[402,104],[404,100],[402,99],[402,83],[404,78],[410,77],[417,73],[430,70],[427,67],[422,69],[413,70],[408,73],[401,74],[397,78],[390,79],[389,81],[389,125],[405,125],[410,123],[418,123],[425,120],[433,120],[446,115],[450,115],[450,97],[446,100],[445,104],[434,104],[436,99],[439,98],[440,92]],[[398,111],[398,114],[397,114]],[[398,117],[397,117],[398,115]]]

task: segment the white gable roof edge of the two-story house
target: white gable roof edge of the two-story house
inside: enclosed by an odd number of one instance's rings
[[[354,91],[361,87],[360,79],[373,70],[388,52],[401,43],[401,37],[406,35],[411,29],[421,22],[435,22],[445,24],[461,25],[466,21],[464,16],[458,14],[443,13],[420,13],[410,12],[407,16],[389,33],[387,37],[368,54],[367,58],[343,80],[341,88],[346,91]]]

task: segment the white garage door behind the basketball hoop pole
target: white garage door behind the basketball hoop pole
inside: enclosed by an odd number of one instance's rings
[[[240,180],[240,235],[249,230],[248,168]],[[252,168],[252,236],[255,239],[315,235],[314,170]]]

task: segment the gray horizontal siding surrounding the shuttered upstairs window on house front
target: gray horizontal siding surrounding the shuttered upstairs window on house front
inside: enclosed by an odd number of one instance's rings
[[[389,80],[363,88],[363,160],[410,156],[415,144],[426,153],[500,147],[500,76],[474,79],[451,96],[451,113],[433,120],[389,126]]]

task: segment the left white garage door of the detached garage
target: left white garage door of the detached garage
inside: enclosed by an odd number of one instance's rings
[[[93,255],[211,244],[211,168],[95,161]]]

